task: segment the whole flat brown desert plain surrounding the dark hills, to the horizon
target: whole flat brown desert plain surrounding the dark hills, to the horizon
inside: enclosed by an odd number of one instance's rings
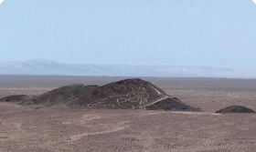
[[[101,86],[123,78],[126,77],[0,76],[0,97],[40,95],[72,84]],[[256,80],[141,78],[204,112],[20,106],[0,102],[0,152],[256,151],[255,114],[215,114],[231,105],[256,110]]]

